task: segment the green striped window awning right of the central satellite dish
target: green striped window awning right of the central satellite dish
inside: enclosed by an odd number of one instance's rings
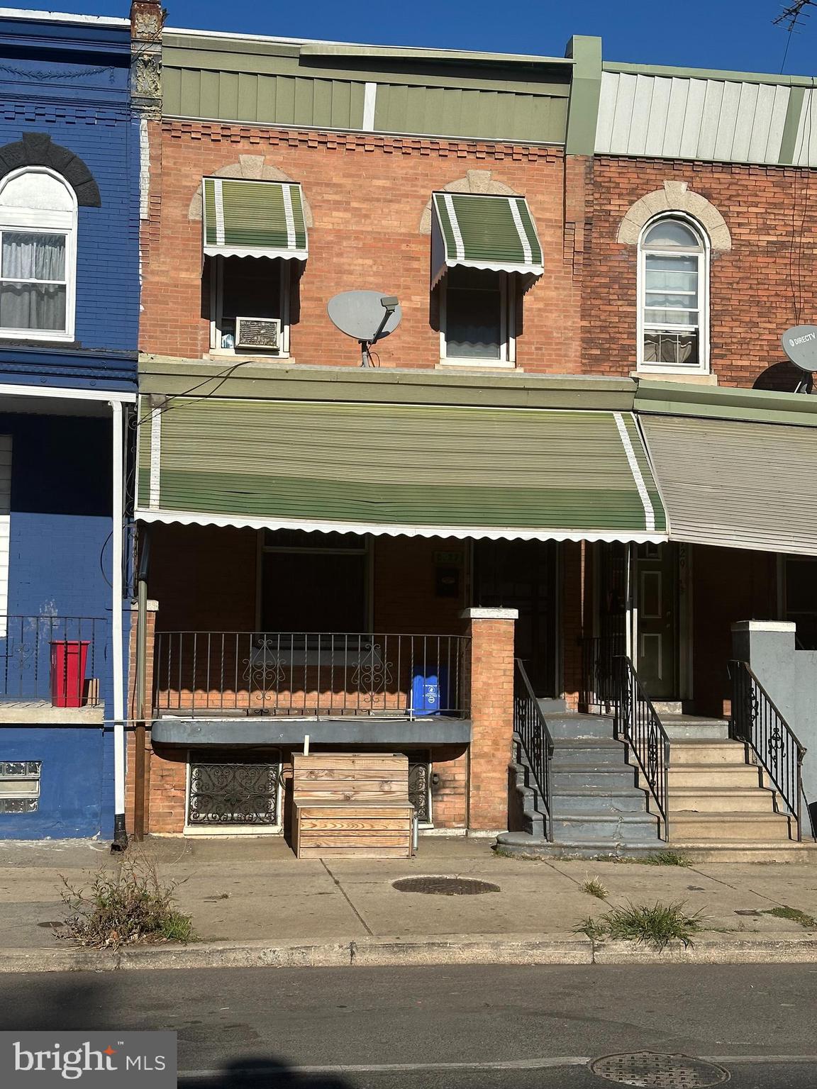
[[[524,197],[435,193],[431,286],[447,269],[520,272],[533,283],[544,272],[541,244]]]

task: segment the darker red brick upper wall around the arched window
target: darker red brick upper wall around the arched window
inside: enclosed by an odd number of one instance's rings
[[[578,172],[571,161],[570,176]],[[780,335],[810,320],[817,302],[814,277],[817,220],[808,211],[813,171],[736,163],[675,162],[597,157],[590,179],[583,260],[582,369],[629,375],[636,364],[635,246],[617,242],[627,209],[686,182],[720,211],[732,249],[712,254],[710,362],[721,386],[792,391]]]

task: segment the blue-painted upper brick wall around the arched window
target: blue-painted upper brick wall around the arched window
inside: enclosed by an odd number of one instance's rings
[[[2,146],[44,133],[78,156],[101,207],[80,207],[76,341],[0,341],[0,380],[133,388],[139,313],[139,136],[127,27],[0,19]]]

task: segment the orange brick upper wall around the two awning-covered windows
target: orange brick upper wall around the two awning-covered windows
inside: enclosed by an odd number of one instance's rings
[[[155,122],[149,129],[143,351],[194,359],[208,353],[202,222],[188,218],[191,200],[203,175],[234,163],[240,155],[253,155],[300,181],[313,211],[309,259],[295,306],[300,313],[291,329],[296,363],[358,365],[354,344],[331,325],[326,304],[339,292],[370,285],[398,295],[403,309],[400,330],[378,344],[380,365],[439,363],[429,299],[430,238],[419,233],[420,219],[434,189],[468,169],[489,169],[493,181],[527,196],[545,253],[545,274],[520,306],[517,365],[551,374],[580,369],[573,238],[581,235],[581,225],[571,227],[565,236],[564,157],[559,148],[181,121]],[[581,205],[578,200],[580,210]]]

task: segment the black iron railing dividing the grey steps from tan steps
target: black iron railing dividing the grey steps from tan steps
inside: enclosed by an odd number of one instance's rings
[[[630,746],[660,818],[661,839],[669,839],[667,794],[670,738],[626,654],[614,660],[615,736]]]

